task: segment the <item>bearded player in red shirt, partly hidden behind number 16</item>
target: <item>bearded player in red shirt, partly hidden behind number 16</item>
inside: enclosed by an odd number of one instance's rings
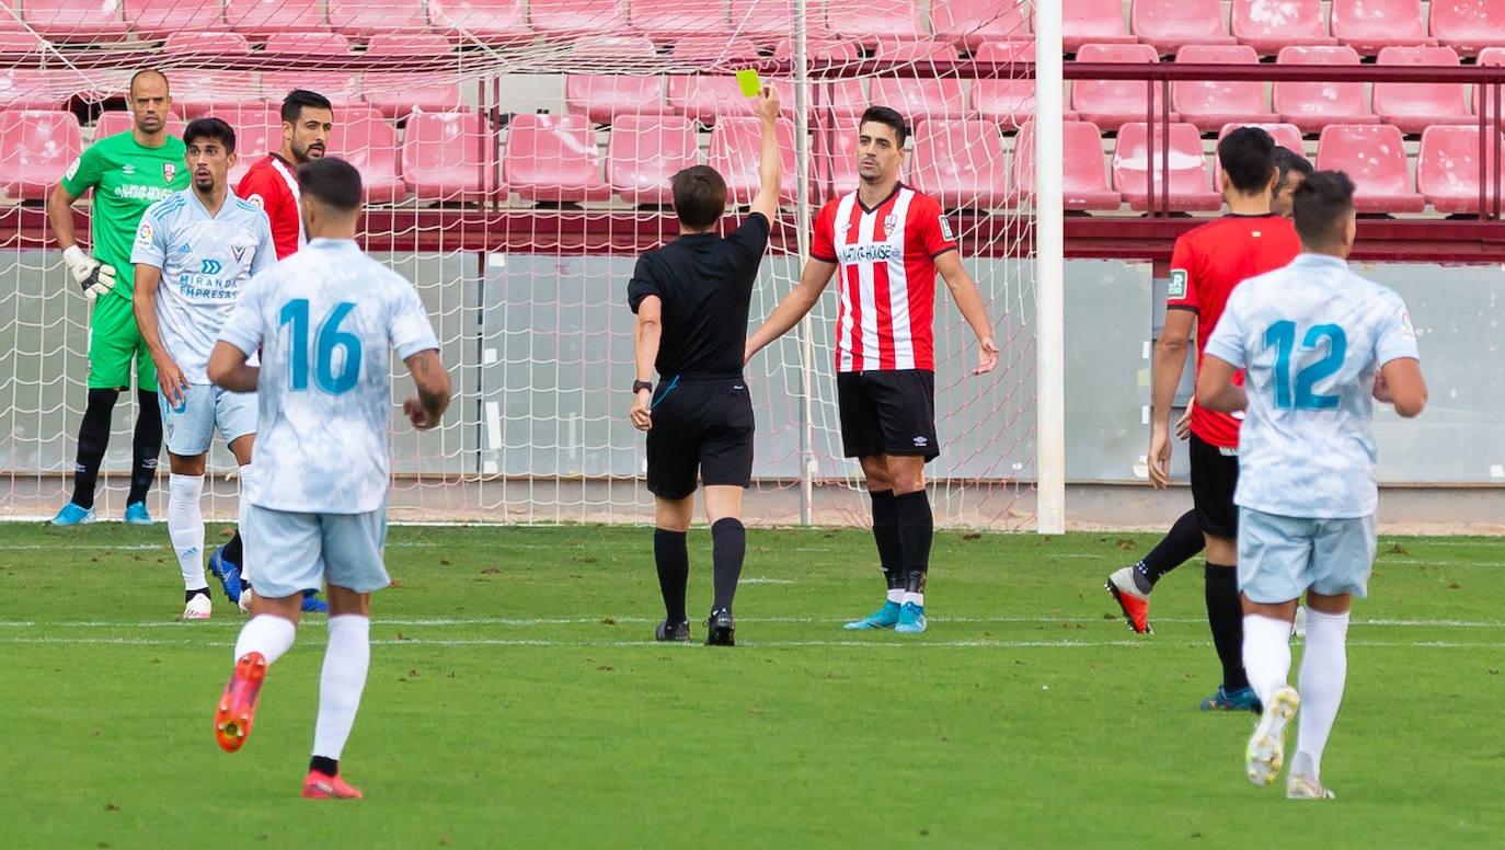
[[[324,95],[293,89],[283,98],[281,119],[281,149],[262,156],[235,187],[235,194],[266,211],[278,260],[307,242],[298,214],[298,165],[324,156],[334,128],[334,108]]]

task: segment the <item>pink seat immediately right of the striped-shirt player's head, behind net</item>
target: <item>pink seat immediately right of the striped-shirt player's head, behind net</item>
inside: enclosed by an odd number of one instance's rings
[[[942,209],[1010,206],[1004,138],[990,120],[929,119],[915,125],[909,173]]]

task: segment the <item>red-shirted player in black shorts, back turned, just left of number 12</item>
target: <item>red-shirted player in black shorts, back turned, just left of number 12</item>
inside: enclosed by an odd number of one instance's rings
[[[1196,331],[1196,370],[1201,342],[1212,335],[1228,295],[1245,278],[1281,268],[1300,253],[1300,238],[1290,220],[1270,211],[1279,178],[1275,140],[1252,126],[1239,128],[1218,143],[1228,215],[1175,239],[1165,329],[1154,348],[1154,412],[1150,427],[1150,483],[1163,489],[1171,478],[1171,403],[1186,366],[1186,345]],[[1240,375],[1242,381],[1242,375]],[[1202,700],[1204,710],[1260,710],[1243,671],[1243,609],[1239,602],[1239,512],[1233,502],[1239,483],[1239,420],[1192,408],[1192,502],[1207,540],[1204,594],[1213,645],[1222,662],[1222,685]]]

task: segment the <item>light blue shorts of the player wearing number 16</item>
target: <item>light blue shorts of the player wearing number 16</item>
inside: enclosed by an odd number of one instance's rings
[[[245,561],[254,566],[256,596],[281,599],[324,582],[373,593],[391,584],[382,561],[387,505],[370,513],[295,513],[248,505]]]

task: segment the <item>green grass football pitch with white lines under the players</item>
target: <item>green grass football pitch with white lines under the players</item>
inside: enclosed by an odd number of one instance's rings
[[[1199,561],[1160,582],[1154,635],[1126,629],[1103,578],[1153,540],[942,531],[930,630],[903,636],[840,627],[880,600],[868,533],[751,530],[722,648],[653,642],[644,528],[393,528],[342,761],[366,799],[310,802],[322,617],[227,755],[244,618],[215,584],[211,621],[176,621],[166,528],[0,524],[0,844],[1497,845],[1505,540],[1382,537],[1333,802],[1252,787],[1254,716],[1196,710]],[[691,531],[692,617],[709,549]]]

